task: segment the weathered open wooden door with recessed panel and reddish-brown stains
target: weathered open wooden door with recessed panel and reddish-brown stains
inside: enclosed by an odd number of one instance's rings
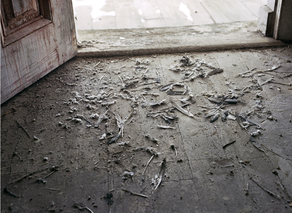
[[[77,54],[72,0],[1,1],[1,104]]]

